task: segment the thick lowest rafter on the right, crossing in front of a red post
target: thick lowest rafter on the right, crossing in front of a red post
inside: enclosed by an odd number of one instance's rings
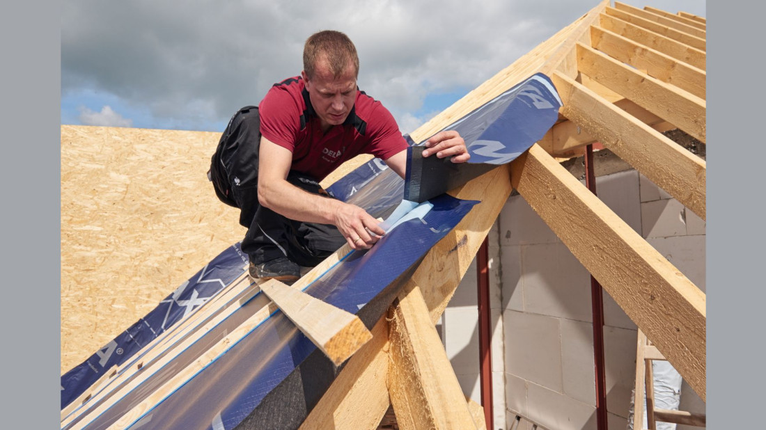
[[[704,400],[705,294],[538,145],[510,171],[513,187]]]

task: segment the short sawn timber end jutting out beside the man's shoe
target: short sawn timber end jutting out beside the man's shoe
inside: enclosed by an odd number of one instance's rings
[[[372,339],[372,334],[355,314],[319,298],[277,281],[265,282],[260,290],[336,366]]]

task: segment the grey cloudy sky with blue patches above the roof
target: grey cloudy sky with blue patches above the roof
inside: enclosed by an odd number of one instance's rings
[[[302,69],[303,42],[343,31],[358,85],[411,132],[598,0],[69,0],[61,123],[221,132]],[[625,0],[705,15],[704,0]]]

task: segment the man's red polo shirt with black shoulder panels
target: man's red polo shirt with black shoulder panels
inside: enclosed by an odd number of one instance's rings
[[[317,181],[356,155],[385,160],[408,147],[391,112],[359,90],[349,117],[324,134],[301,77],[274,84],[258,105],[258,114],[260,133],[293,152],[291,169]]]

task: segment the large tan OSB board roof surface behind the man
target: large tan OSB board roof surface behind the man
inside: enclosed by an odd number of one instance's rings
[[[244,236],[206,172],[220,133],[61,126],[61,373]]]

